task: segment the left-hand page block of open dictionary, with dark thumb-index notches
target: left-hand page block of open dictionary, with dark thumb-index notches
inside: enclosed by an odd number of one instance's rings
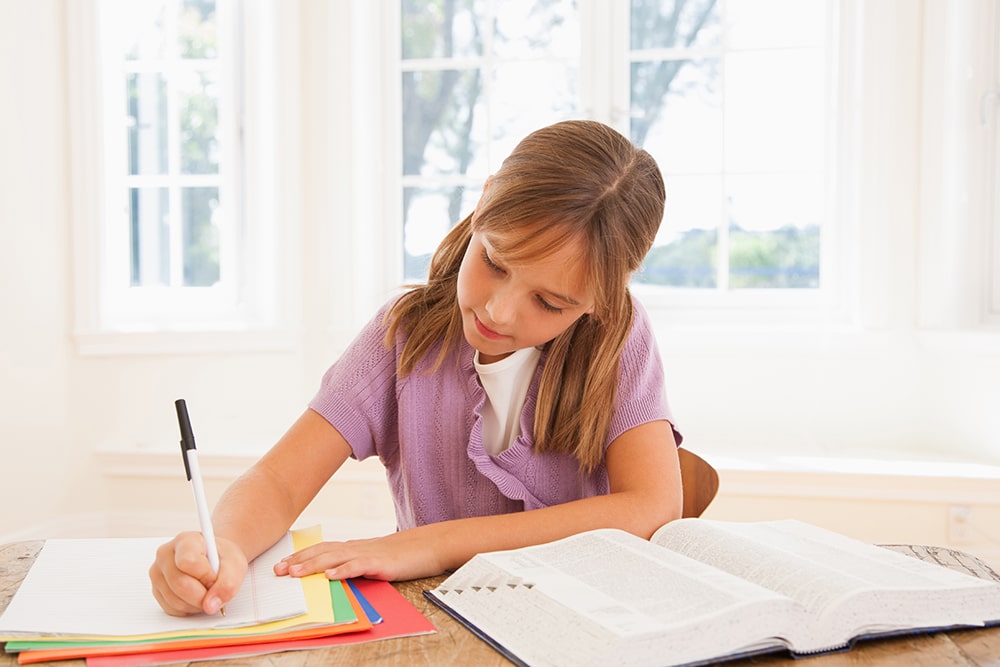
[[[432,594],[533,665],[705,659],[777,645],[802,613],[621,531],[481,554]]]

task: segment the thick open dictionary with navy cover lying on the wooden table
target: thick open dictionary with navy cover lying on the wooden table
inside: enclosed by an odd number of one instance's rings
[[[520,664],[679,665],[1000,623],[1000,583],[797,521],[480,554],[425,595]]]

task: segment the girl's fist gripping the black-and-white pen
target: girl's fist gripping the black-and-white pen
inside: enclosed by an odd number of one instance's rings
[[[149,580],[163,611],[171,616],[215,614],[236,595],[247,573],[247,557],[235,542],[220,537],[216,544],[218,576],[208,562],[201,533],[180,533],[156,550]]]

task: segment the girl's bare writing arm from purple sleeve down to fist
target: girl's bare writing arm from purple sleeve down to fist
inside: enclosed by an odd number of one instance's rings
[[[153,595],[170,614],[213,614],[239,590],[249,561],[274,544],[350,456],[340,433],[312,410],[226,490],[212,515],[219,573],[200,533],[162,545],[149,570]]]

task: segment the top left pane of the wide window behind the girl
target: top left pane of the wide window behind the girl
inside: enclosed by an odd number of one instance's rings
[[[403,0],[403,59],[480,55],[483,5],[475,0]]]

